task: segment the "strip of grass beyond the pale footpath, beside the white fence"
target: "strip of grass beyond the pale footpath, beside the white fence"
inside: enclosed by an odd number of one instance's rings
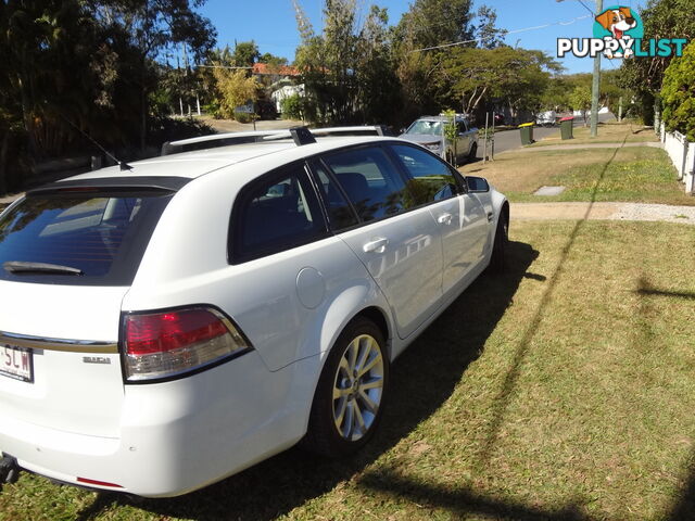
[[[513,202],[619,201],[695,205],[677,180],[665,151],[654,148],[507,152],[471,163],[464,175],[488,178]],[[563,186],[555,196],[533,195],[542,186]]]

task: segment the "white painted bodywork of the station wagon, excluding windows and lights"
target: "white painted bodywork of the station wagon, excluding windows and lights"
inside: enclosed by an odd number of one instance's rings
[[[164,497],[295,444],[306,432],[327,354],[351,319],[366,308],[380,313],[394,359],[490,263],[506,204],[494,189],[229,264],[229,218],[248,182],[329,150],[387,142],[402,141],[236,145],[131,165],[139,176],[192,178],[161,215],[132,283],[0,280],[0,332],[115,344],[123,313],[213,305],[254,348],[185,378],[144,384],[124,383],[117,353],[88,364],[90,350],[75,342],[70,353],[37,348],[34,383],[0,376],[0,450],[66,483],[87,478],[96,488]],[[74,179],[122,176],[106,168]],[[387,242],[365,251],[380,239]]]

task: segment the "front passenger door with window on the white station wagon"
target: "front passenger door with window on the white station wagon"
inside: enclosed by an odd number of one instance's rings
[[[444,300],[460,291],[484,257],[489,224],[477,194],[468,193],[458,173],[419,148],[390,145],[407,171],[410,191],[427,205],[442,239]]]

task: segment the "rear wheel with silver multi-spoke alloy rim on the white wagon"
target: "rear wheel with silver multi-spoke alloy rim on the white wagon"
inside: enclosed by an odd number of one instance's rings
[[[389,357],[381,330],[358,317],[328,355],[314,395],[302,446],[328,457],[364,446],[381,419],[389,384]]]

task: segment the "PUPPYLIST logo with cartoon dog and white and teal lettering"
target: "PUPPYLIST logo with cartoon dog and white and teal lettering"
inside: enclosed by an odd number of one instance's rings
[[[682,56],[685,38],[644,40],[644,25],[636,10],[624,5],[606,9],[594,18],[593,38],[558,38],[557,56],[655,58]]]

